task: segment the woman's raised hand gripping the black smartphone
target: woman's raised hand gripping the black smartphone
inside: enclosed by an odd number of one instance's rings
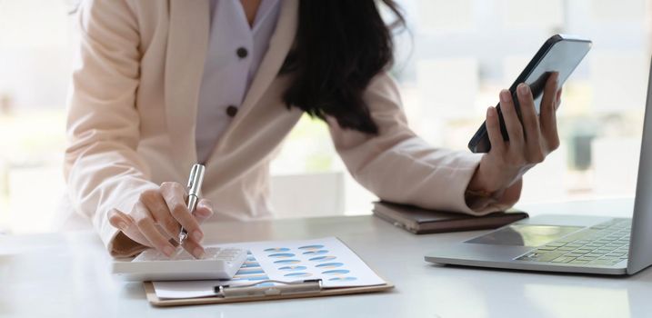
[[[500,134],[497,109],[489,107],[486,110],[486,130],[491,150],[482,157],[476,174],[468,184],[468,193],[502,196],[507,188],[521,180],[527,170],[543,162],[547,154],[559,147],[556,112],[561,89],[557,90],[557,82],[557,73],[547,79],[541,98],[540,115],[537,115],[529,86],[517,86],[523,124],[518,119],[509,91],[500,92],[500,109],[509,140],[504,141]]]

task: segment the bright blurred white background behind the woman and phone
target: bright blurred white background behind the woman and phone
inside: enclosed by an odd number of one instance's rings
[[[557,33],[594,42],[564,88],[560,149],[525,178],[522,203],[634,194],[650,60],[650,0],[402,0],[392,73],[408,121],[466,151],[497,93]],[[65,101],[75,1],[0,0],[0,233],[56,230],[65,194]],[[369,214],[326,125],[304,117],[272,167],[279,217]],[[183,182],[183,181],[182,181]],[[292,195],[289,195],[292,194]],[[28,207],[26,207],[28,205]],[[29,211],[29,214],[26,214]],[[34,214],[37,212],[37,214]]]

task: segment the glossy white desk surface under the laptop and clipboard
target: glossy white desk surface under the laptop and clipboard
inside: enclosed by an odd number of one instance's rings
[[[529,206],[531,214],[628,215],[629,201]],[[156,308],[141,283],[109,274],[92,232],[0,236],[1,317],[649,317],[652,270],[612,278],[455,268],[425,263],[438,243],[475,233],[413,235],[372,216],[206,226],[206,241],[336,235],[387,280],[389,293]]]

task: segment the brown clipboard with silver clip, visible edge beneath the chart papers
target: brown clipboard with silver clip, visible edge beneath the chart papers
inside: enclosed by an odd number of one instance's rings
[[[335,296],[353,293],[376,293],[394,288],[394,284],[385,281],[385,284],[360,287],[323,288],[321,279],[306,280],[298,283],[279,281],[261,281],[244,286],[216,286],[216,294],[210,297],[161,299],[156,296],[154,284],[145,282],[145,295],[147,301],[155,306],[184,306],[208,303],[245,303],[259,301],[273,301],[281,299],[309,298]],[[256,286],[260,283],[279,283],[276,286]]]

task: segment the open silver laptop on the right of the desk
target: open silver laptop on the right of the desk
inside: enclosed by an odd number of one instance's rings
[[[645,269],[652,264],[652,68],[645,113],[632,218],[540,215],[440,246],[426,262],[610,275]]]

